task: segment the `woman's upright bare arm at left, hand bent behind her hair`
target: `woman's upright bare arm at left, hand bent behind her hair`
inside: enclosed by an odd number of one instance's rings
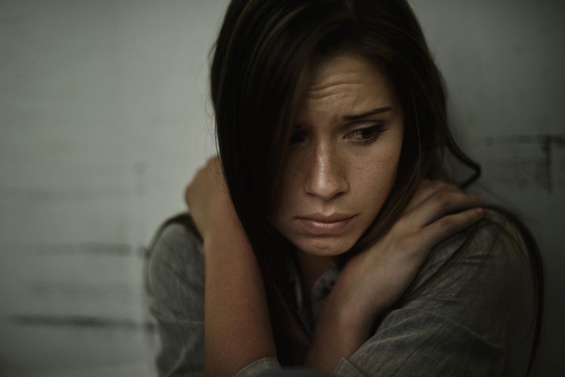
[[[276,357],[263,279],[219,159],[198,172],[185,197],[203,237],[205,375],[233,376],[251,362]]]

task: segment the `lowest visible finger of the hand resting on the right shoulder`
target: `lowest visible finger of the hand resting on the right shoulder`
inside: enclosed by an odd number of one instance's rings
[[[426,248],[431,249],[447,237],[472,226],[483,218],[483,215],[483,209],[472,208],[460,213],[444,216],[421,229],[421,241]]]

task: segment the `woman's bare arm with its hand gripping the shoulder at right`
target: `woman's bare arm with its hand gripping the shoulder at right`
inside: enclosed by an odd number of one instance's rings
[[[316,323],[305,365],[331,372],[340,358],[351,356],[370,337],[376,317],[405,292],[429,250],[479,221],[482,212],[469,210],[479,204],[454,186],[424,181],[390,231],[341,271]]]

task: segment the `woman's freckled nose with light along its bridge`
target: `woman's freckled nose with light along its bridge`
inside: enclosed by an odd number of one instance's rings
[[[305,189],[308,194],[330,200],[349,190],[345,163],[331,146],[318,148],[307,163]]]

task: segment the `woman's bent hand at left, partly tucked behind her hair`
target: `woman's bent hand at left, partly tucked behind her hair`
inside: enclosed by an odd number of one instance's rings
[[[217,156],[208,159],[206,165],[198,170],[186,187],[185,201],[205,240],[210,233],[239,225]]]

